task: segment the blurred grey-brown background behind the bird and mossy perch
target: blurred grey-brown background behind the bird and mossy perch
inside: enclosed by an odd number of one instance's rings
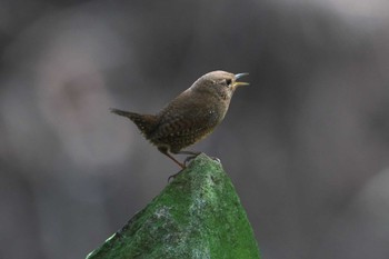
[[[221,159],[263,258],[389,258],[386,0],[0,1],[0,258],[100,246],[178,167],[153,113],[250,72],[193,150]],[[183,157],[180,157],[183,159]]]

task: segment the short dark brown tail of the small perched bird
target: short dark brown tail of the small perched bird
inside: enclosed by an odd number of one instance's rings
[[[158,124],[158,119],[152,114],[139,114],[131,111],[123,111],[119,109],[110,109],[112,113],[127,117],[140,129],[144,137],[149,137]]]

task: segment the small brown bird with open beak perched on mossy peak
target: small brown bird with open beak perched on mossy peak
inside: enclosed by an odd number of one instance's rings
[[[200,152],[182,149],[206,138],[223,120],[237,87],[249,84],[237,81],[247,74],[225,71],[206,73],[157,114],[118,109],[111,111],[132,120],[146,139],[183,169],[186,162]],[[181,163],[171,153],[190,157]]]

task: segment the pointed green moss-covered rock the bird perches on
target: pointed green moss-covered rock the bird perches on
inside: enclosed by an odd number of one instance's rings
[[[259,258],[245,209],[221,165],[198,156],[88,259]]]

